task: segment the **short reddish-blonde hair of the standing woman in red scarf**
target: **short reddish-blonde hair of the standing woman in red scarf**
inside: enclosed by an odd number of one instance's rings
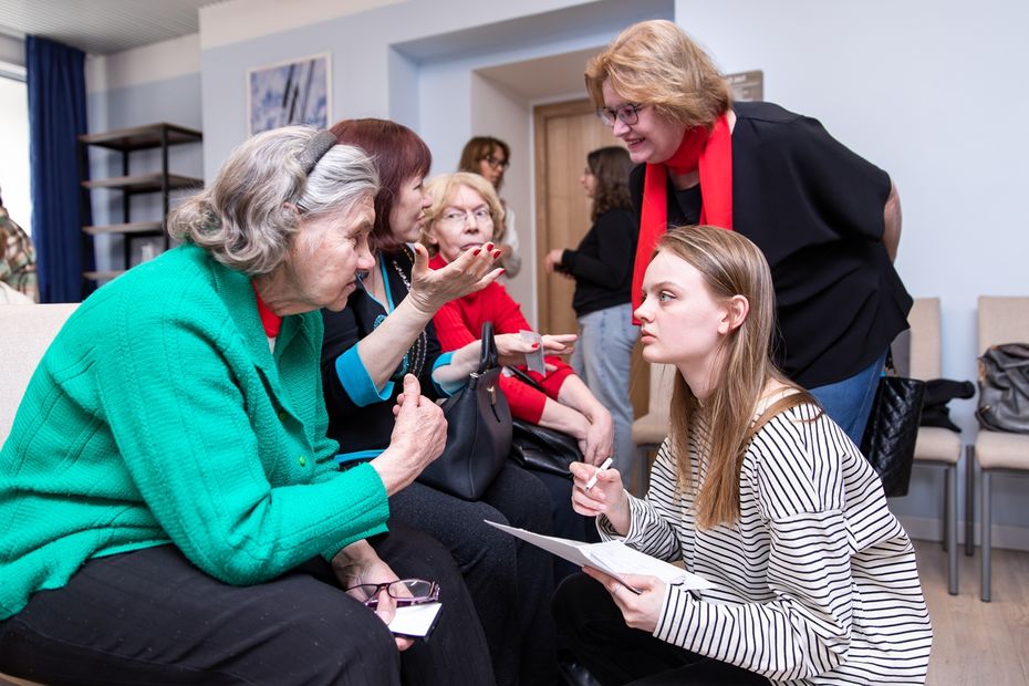
[[[642,21],[622,31],[586,65],[586,90],[604,106],[604,82],[632,103],[649,105],[688,128],[710,127],[732,92],[710,56],[674,22]]]

